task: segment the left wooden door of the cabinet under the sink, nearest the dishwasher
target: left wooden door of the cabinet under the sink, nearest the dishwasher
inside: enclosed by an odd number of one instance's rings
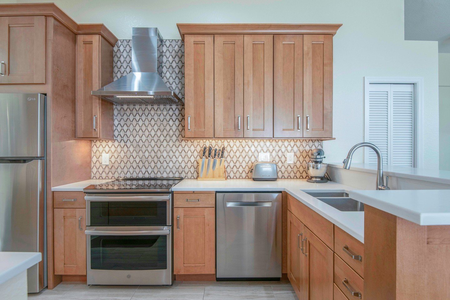
[[[288,211],[288,278],[299,300],[305,295],[305,267],[306,258],[300,248],[304,233],[304,225],[290,211]]]

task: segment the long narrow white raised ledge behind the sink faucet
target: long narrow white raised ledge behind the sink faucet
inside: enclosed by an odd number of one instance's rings
[[[342,168],[341,163],[329,163],[328,166]],[[352,163],[350,170],[377,173],[377,164]],[[440,184],[450,184],[450,171],[419,169],[413,167],[383,166],[383,174],[408,179],[417,179]]]

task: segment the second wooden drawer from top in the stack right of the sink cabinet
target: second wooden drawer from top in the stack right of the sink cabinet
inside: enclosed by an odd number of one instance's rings
[[[334,255],[334,283],[348,299],[364,299],[364,280],[348,264]],[[355,293],[352,295],[352,291]]]

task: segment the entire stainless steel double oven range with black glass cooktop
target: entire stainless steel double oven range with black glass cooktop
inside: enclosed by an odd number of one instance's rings
[[[182,178],[124,178],[86,193],[87,284],[171,285],[172,192]]]

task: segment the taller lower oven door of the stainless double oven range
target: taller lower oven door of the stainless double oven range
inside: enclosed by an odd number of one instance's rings
[[[171,226],[87,227],[87,284],[171,285]]]

